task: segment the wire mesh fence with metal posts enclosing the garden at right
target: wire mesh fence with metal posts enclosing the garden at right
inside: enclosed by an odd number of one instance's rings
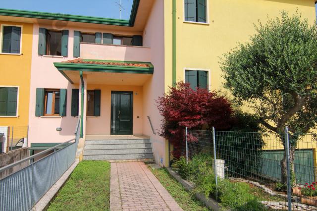
[[[210,191],[210,197],[225,202],[228,196],[224,194],[230,195],[227,189],[232,189],[233,195],[241,195],[228,200],[226,205],[230,208],[317,210],[314,139],[313,134],[288,131],[263,134],[186,130],[183,156],[188,165],[197,166],[197,171],[212,162],[216,177],[215,191]],[[199,176],[190,179],[200,182]]]

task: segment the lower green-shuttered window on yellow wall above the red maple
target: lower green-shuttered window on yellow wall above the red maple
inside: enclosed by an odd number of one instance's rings
[[[200,89],[208,89],[208,71],[186,70],[185,82],[189,83],[193,90],[196,90],[197,87]]]

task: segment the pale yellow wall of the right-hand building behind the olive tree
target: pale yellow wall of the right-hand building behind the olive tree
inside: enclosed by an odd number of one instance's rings
[[[207,24],[184,22],[184,0],[176,0],[176,81],[184,80],[184,68],[208,69],[211,73],[211,90],[226,92],[219,66],[220,57],[235,48],[238,43],[249,41],[256,33],[254,24],[265,23],[279,15],[281,10],[294,14],[314,24],[315,0],[207,0]],[[172,85],[172,0],[164,1],[165,21],[165,92]],[[250,111],[250,110],[249,110]],[[300,149],[314,149],[311,140],[299,143]],[[266,143],[266,150],[283,149],[274,143]]]

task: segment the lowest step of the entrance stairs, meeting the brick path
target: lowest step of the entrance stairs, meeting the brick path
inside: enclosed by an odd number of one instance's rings
[[[84,155],[84,160],[122,160],[122,159],[148,159],[154,158],[153,153],[122,154],[122,155]]]

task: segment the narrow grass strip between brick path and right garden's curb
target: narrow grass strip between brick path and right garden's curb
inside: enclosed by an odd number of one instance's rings
[[[184,211],[208,211],[208,208],[196,199],[194,193],[187,192],[185,188],[168,173],[166,168],[153,169],[150,167],[150,170]]]

